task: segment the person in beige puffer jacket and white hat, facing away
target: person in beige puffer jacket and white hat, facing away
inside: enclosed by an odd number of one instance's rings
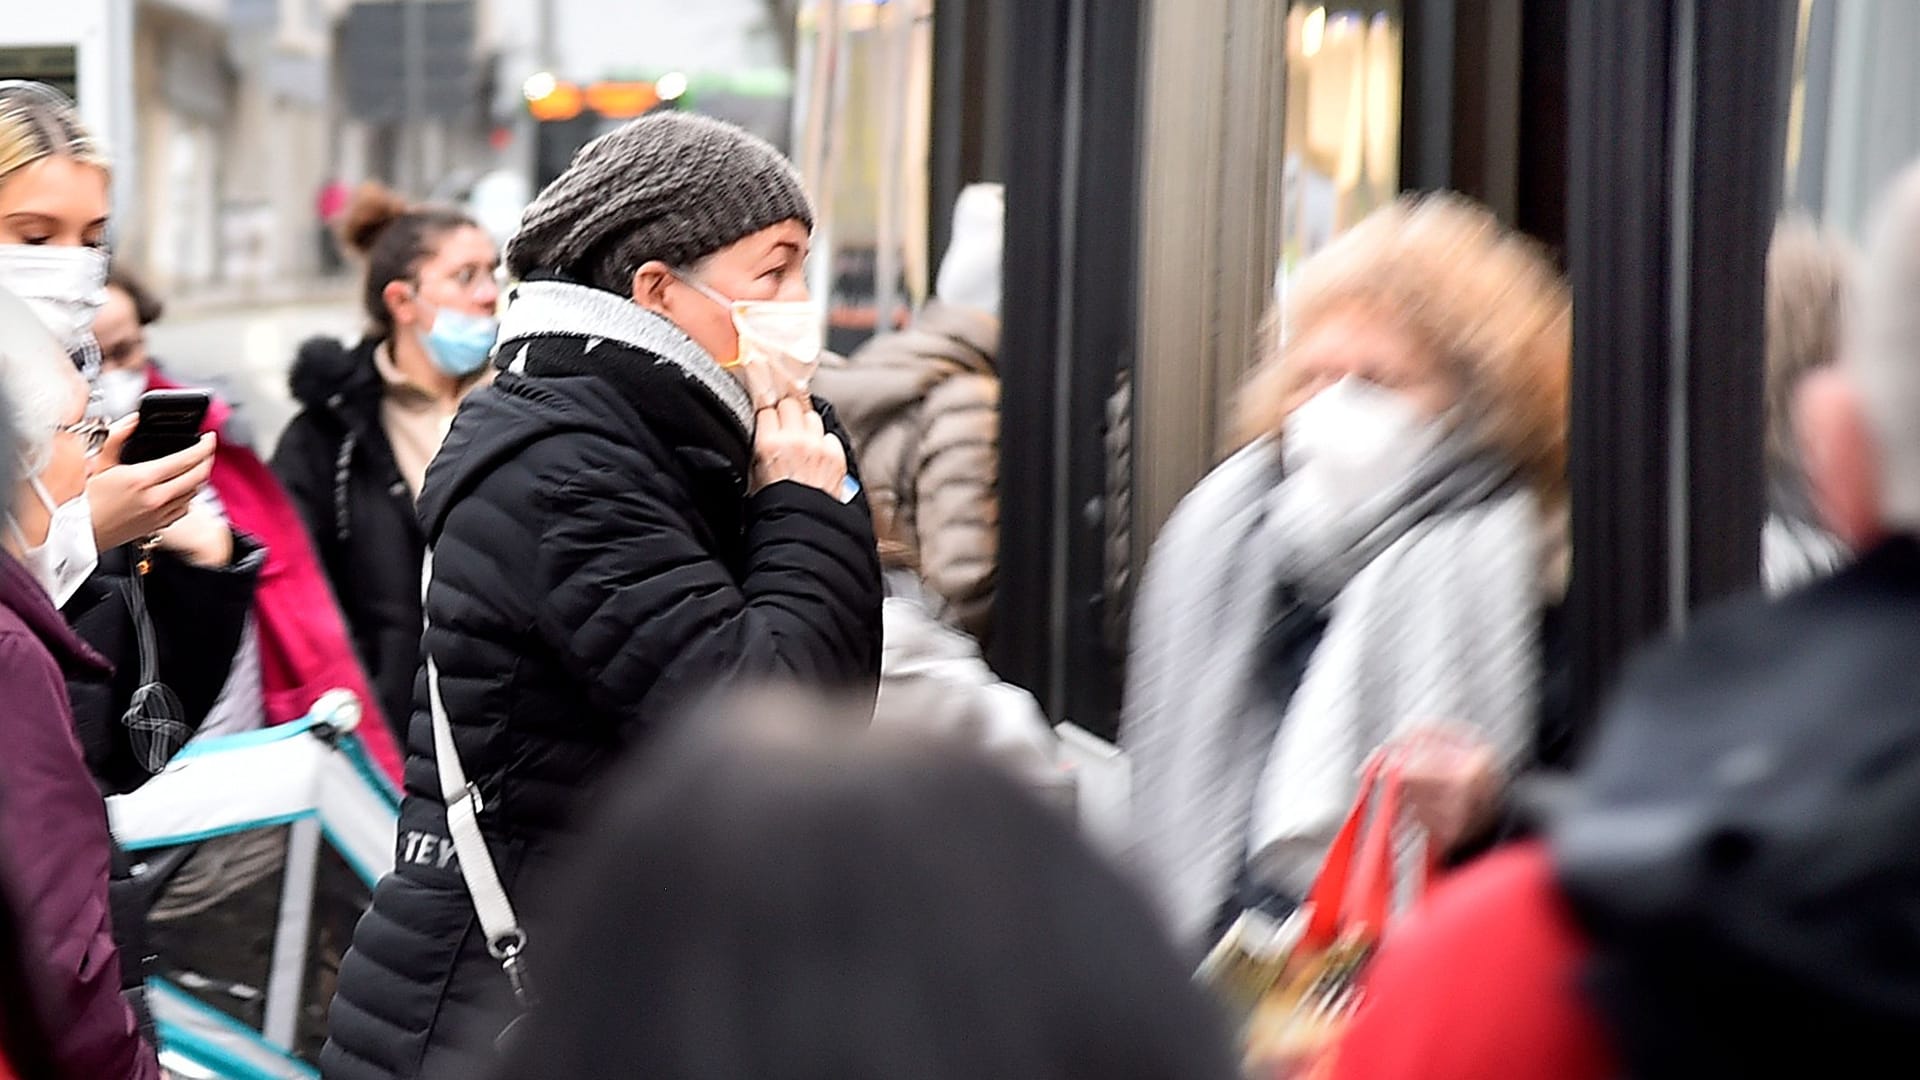
[[[874,519],[912,553],[924,598],[977,642],[1000,546],[1000,250],[1006,196],[970,184],[935,294],[897,334],[828,357],[814,388],[847,419]]]

